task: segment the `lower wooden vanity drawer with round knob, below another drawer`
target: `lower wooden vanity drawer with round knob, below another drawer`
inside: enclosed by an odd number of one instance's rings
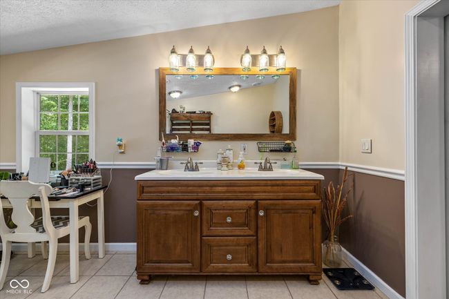
[[[202,272],[256,272],[256,237],[203,237]]]

